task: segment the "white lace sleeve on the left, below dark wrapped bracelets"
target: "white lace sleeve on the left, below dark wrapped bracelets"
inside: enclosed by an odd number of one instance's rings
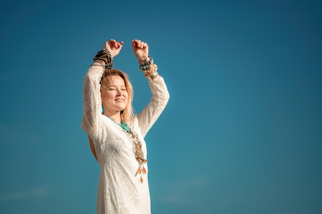
[[[100,66],[90,66],[84,77],[83,90],[83,119],[81,127],[94,138],[98,137],[98,124],[101,118],[102,102],[100,93],[100,79],[103,69]]]

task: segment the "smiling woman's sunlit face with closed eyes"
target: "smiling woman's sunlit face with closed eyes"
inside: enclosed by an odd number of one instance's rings
[[[129,95],[124,80],[120,76],[105,78],[105,86],[101,87],[101,99],[105,115],[114,115],[128,105]]]

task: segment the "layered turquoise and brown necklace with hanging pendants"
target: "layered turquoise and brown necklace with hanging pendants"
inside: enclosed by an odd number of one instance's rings
[[[110,117],[108,117],[110,118]],[[112,118],[110,118],[112,120]],[[113,120],[112,120],[113,121]],[[116,123],[115,121],[113,121],[114,123]],[[140,182],[143,183],[143,178],[142,178],[142,174],[146,174],[147,170],[146,168],[144,168],[144,163],[147,163],[148,160],[144,159],[144,153],[142,151],[142,144],[141,141],[139,140],[137,134],[129,127],[129,125],[123,121],[121,121],[120,124],[116,123],[117,125],[119,125],[122,130],[127,133],[134,144],[135,147],[135,159],[139,164],[139,167],[137,169],[137,173],[140,174]]]

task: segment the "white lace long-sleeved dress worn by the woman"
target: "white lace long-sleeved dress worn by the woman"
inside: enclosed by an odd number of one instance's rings
[[[97,213],[99,214],[150,214],[150,193],[147,174],[137,174],[134,144],[130,136],[112,120],[101,113],[100,79],[103,70],[91,66],[84,78],[84,106],[81,127],[94,141],[98,163],[101,167]],[[162,77],[149,81],[152,99],[148,106],[135,115],[130,128],[138,135],[144,157],[147,146],[144,137],[161,114],[169,100]]]

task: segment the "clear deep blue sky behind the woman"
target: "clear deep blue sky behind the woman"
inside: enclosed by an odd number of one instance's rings
[[[170,92],[146,137],[153,214],[322,213],[321,1],[18,0],[0,17],[0,213],[96,213],[82,84],[110,38],[136,112],[133,39]]]

